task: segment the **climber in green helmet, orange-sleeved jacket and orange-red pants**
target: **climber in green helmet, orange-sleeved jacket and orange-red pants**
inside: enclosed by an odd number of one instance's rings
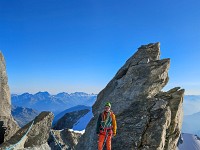
[[[116,135],[117,123],[115,114],[111,110],[111,104],[107,102],[104,111],[99,115],[96,133],[98,134],[98,150],[103,150],[106,142],[106,149],[111,150],[112,136]]]

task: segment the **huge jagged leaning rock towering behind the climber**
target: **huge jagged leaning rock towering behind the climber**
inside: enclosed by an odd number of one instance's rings
[[[94,117],[76,149],[97,149],[97,118],[110,101],[118,124],[113,149],[175,150],[184,90],[161,92],[169,80],[169,64],[169,59],[160,60],[159,43],[141,46],[97,96]]]

